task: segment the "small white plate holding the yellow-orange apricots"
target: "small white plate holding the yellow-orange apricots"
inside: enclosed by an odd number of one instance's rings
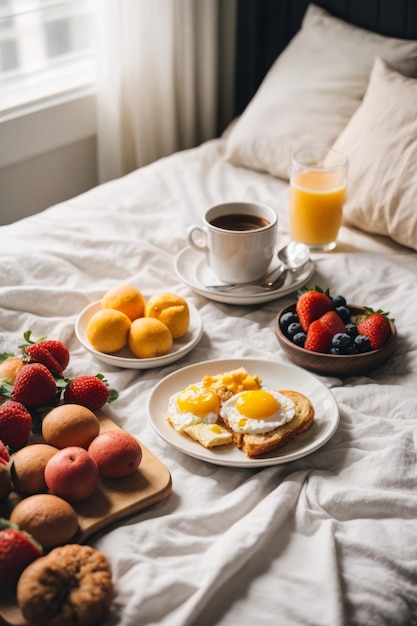
[[[105,354],[104,352],[95,350],[90,345],[86,337],[85,330],[90,317],[100,309],[100,300],[89,304],[83,311],[81,311],[75,323],[75,334],[84,348],[91,352],[91,354],[94,354],[94,356],[100,361],[107,363],[108,365],[115,365],[116,367],[124,367],[128,369],[150,369],[152,367],[162,367],[163,365],[174,363],[174,361],[178,361],[183,356],[188,354],[188,352],[190,352],[190,350],[197,345],[203,335],[203,324],[197,309],[189,302],[188,307],[190,309],[190,326],[185,335],[174,340],[173,346],[168,354],[158,356],[153,359],[137,359],[127,347],[123,348],[123,350],[120,350],[119,352],[115,352],[114,354]]]

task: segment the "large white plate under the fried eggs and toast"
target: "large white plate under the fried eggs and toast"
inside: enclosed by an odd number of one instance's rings
[[[244,367],[250,374],[258,374],[264,385],[274,389],[293,389],[306,395],[313,403],[315,420],[305,433],[290,443],[258,459],[249,459],[234,445],[203,448],[199,443],[178,433],[166,419],[169,397],[206,375],[220,374]],[[262,467],[279,465],[300,459],[314,452],[332,437],[339,425],[339,409],[331,392],[313,374],[285,363],[271,363],[258,359],[225,359],[189,365],[163,378],[148,399],[148,416],[155,431],[184,454],[229,467]]]

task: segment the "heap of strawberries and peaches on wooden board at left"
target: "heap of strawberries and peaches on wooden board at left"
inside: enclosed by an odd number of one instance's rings
[[[68,348],[24,336],[21,355],[0,363],[0,588],[11,591],[29,563],[74,538],[72,504],[91,497],[100,477],[129,476],[142,460],[132,435],[100,432],[96,413],[117,398],[104,377],[65,378]]]

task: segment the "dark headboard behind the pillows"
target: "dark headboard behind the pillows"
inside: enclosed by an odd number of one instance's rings
[[[237,0],[236,115],[300,28],[309,4],[309,0]],[[416,0],[318,0],[314,4],[356,26],[417,40]]]

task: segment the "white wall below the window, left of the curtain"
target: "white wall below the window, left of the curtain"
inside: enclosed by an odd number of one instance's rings
[[[0,224],[97,184],[94,94],[0,121]]]

